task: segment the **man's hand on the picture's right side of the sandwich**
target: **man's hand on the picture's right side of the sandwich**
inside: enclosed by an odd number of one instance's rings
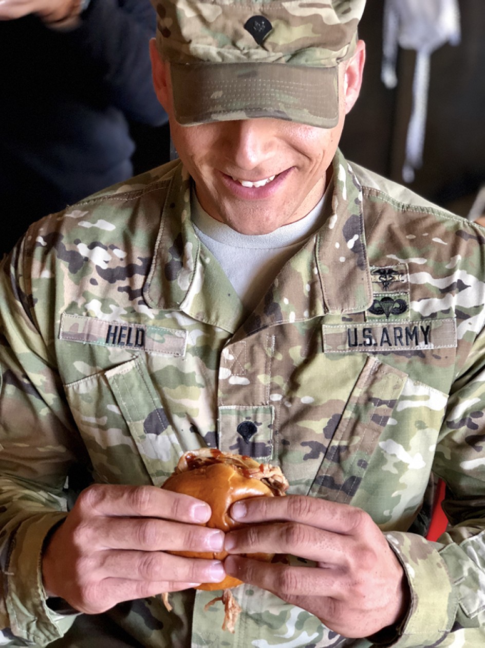
[[[290,495],[243,500],[229,512],[247,524],[227,533],[229,553],[288,553],[317,565],[288,566],[231,555],[225,560],[226,573],[308,610],[349,638],[370,636],[405,617],[405,572],[365,511]]]

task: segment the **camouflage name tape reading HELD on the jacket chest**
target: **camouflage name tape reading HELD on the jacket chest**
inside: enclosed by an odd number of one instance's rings
[[[123,321],[107,321],[63,313],[60,340],[120,347],[168,356],[184,356],[187,334],[183,330],[164,329]]]

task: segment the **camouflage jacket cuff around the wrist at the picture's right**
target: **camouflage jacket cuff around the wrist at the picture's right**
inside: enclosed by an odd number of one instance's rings
[[[385,537],[405,570],[411,590],[407,618],[398,628],[399,636],[387,645],[437,645],[451,631],[458,605],[446,563],[433,542],[420,535],[392,531]]]

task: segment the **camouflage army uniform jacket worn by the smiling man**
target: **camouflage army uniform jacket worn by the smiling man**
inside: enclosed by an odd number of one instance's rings
[[[339,152],[333,171],[324,225],[251,314],[194,233],[179,162],[34,224],[3,264],[1,645],[73,622],[47,607],[39,555],[76,461],[96,482],[159,485],[203,445],[372,515],[411,584],[396,646],[483,645],[484,230]],[[432,471],[452,526],[439,542],[410,532]],[[111,616],[147,647],[370,645],[268,592],[234,595],[234,635],[220,605],[204,612],[211,592]]]

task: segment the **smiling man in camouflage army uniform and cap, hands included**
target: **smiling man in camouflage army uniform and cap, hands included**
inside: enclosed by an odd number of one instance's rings
[[[2,645],[482,645],[485,240],[339,151],[365,0],[153,4],[180,160],[3,264]],[[205,446],[289,496],[200,526],[159,486]],[[224,573],[234,634],[193,588]]]

